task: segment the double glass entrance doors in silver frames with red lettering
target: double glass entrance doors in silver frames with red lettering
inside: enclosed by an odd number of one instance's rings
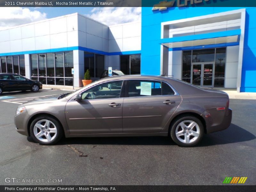
[[[213,63],[192,65],[192,84],[201,87],[213,87]]]

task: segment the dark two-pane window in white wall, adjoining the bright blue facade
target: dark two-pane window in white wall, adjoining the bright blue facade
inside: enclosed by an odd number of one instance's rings
[[[125,75],[140,74],[140,54],[121,55],[120,70]]]

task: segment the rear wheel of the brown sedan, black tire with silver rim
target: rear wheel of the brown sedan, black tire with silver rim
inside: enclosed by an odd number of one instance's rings
[[[192,126],[192,127],[191,127]],[[172,140],[181,147],[196,145],[204,135],[204,126],[195,116],[184,115],[170,125]]]

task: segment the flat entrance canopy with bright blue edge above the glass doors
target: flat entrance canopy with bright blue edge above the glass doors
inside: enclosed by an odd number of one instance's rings
[[[238,42],[241,30],[229,30],[200,35],[181,36],[161,39],[161,44],[168,48],[181,48],[199,45],[212,45]]]

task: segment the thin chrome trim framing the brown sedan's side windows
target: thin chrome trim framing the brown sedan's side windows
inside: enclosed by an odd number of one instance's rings
[[[174,94],[173,95],[153,95],[153,96],[138,96],[138,97],[119,97],[119,98],[112,98],[112,99],[120,99],[120,98],[145,98],[145,97],[170,97],[170,96],[178,96],[180,95],[180,93],[177,92],[177,90],[168,82],[164,81],[164,80],[156,80],[156,79],[118,79],[118,80],[109,80],[109,81],[105,81],[105,82],[102,82],[102,83],[99,83],[99,84],[96,84],[96,85],[93,85],[92,87],[88,87],[86,89],[83,89],[82,91],[80,91],[79,93],[82,93],[88,89],[91,89],[95,86],[98,86],[100,84],[103,84],[103,83],[108,83],[108,82],[114,82],[114,81],[123,81],[123,84],[122,84],[122,87],[124,85],[124,81],[130,81],[130,80],[149,80],[149,81],[159,81],[159,82],[164,82],[166,83],[167,85],[169,85],[172,90],[174,91]],[[72,101],[75,101],[74,98],[76,97],[73,96],[70,100],[68,100],[68,102],[72,102]],[[94,100],[110,100],[111,98],[108,98],[108,99],[94,99]],[[89,101],[89,100],[82,100],[82,101]],[[91,101],[91,100],[90,100]],[[77,102],[77,101],[76,101]]]

